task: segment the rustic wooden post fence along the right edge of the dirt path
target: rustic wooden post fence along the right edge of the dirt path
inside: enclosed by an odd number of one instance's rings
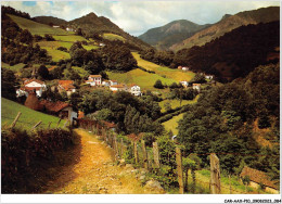
[[[126,141],[123,138],[117,138],[117,133],[108,129],[103,123],[99,120],[90,119],[78,119],[78,126],[91,130],[101,140],[108,144],[114,152],[114,160],[118,161],[125,157],[125,152],[127,151],[131,157],[132,163],[148,170],[154,170],[161,168],[159,162],[159,150],[157,142],[153,142],[153,146],[149,148],[145,145],[144,140],[132,140]],[[216,160],[216,155],[210,156],[210,161]],[[179,193],[184,193],[184,181],[183,181],[183,166],[181,150],[176,148],[176,163],[177,163],[177,175],[179,182]],[[210,162],[211,168],[211,182],[213,186],[211,193],[220,193],[220,170],[219,170],[219,160],[218,162]],[[185,178],[187,179],[187,178]]]

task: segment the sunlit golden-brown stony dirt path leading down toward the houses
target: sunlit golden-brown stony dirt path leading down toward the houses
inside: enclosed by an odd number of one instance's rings
[[[47,193],[67,194],[142,194],[157,193],[142,187],[134,174],[113,164],[112,149],[86,130],[76,129],[81,138],[81,151],[75,166],[49,183]],[[126,171],[127,170],[127,171]],[[129,171],[132,171],[129,169]],[[59,188],[55,188],[59,187]]]

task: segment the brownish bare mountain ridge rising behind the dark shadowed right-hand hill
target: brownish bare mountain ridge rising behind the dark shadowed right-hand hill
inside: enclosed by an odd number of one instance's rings
[[[243,25],[268,23],[280,20],[280,8],[269,7],[258,10],[244,11],[235,15],[225,15],[218,23],[213,26],[203,29],[192,37],[183,40],[180,43],[171,46],[169,49],[174,51],[181,50],[183,48],[191,48],[193,46],[203,46],[226,33],[231,31]]]

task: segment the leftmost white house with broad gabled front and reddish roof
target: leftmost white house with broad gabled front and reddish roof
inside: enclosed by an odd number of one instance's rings
[[[24,87],[16,90],[16,97],[28,97],[29,91],[36,91],[37,97],[41,97],[42,92],[46,90],[46,84],[38,79],[27,79],[24,81]]]

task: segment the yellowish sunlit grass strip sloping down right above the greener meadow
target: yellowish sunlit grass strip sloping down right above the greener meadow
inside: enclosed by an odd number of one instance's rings
[[[182,72],[179,69],[171,69],[166,66],[161,66],[161,65],[154,64],[152,62],[145,61],[145,60],[141,59],[140,54],[138,54],[137,52],[132,52],[132,55],[137,60],[138,66],[141,66],[149,71],[154,71],[157,75],[165,76],[166,78],[171,78],[171,79],[176,80],[177,82],[179,82],[181,80],[189,81],[195,76],[195,73],[193,73],[193,72]]]

